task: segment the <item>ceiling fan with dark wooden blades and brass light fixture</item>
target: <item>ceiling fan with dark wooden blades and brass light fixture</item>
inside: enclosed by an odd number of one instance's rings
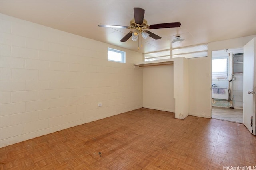
[[[133,41],[137,41],[138,33],[142,34],[142,37],[146,39],[148,36],[153,39],[160,39],[161,37],[145,29],[159,29],[159,28],[176,28],[180,27],[180,22],[171,22],[171,23],[160,23],[154,25],[148,25],[147,20],[144,19],[145,10],[142,8],[133,8],[134,10],[134,19],[130,21],[130,26],[120,26],[120,25],[98,25],[99,27],[107,28],[127,28],[134,29],[126,34],[120,41],[125,42],[130,37]]]

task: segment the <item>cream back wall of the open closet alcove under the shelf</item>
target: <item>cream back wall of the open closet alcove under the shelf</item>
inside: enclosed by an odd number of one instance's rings
[[[173,64],[143,67],[143,107],[175,112]]]

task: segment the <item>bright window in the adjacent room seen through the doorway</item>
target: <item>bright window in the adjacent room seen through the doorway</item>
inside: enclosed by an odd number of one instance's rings
[[[212,59],[212,79],[228,78],[228,58]]]

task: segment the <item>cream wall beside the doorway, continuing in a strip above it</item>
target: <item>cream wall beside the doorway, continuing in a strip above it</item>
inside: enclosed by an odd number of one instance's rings
[[[208,43],[208,57],[189,59],[189,115],[211,117],[212,51],[240,48],[254,37],[256,35]]]

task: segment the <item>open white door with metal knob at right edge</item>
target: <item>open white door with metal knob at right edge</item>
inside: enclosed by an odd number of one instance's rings
[[[244,125],[255,135],[256,132],[256,38],[244,46]]]

